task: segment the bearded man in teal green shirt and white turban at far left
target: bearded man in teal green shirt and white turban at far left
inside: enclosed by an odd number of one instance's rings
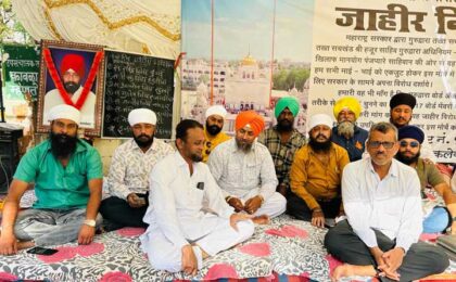
[[[29,150],[14,174],[2,213],[1,255],[75,240],[90,244],[101,222],[102,163],[97,150],[77,138],[79,111],[62,104],[51,108],[49,118],[50,139]],[[29,183],[37,201],[20,210]]]

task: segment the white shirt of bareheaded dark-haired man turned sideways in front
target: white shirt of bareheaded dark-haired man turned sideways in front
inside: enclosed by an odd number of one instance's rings
[[[217,227],[218,219],[233,214],[215,182],[208,167],[193,163],[193,174],[179,152],[166,156],[152,169],[151,193],[143,218],[153,232],[163,234],[181,248]],[[212,213],[208,213],[211,210]],[[152,234],[153,235],[153,234]]]

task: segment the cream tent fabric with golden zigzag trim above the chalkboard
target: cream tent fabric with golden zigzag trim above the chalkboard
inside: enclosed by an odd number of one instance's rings
[[[65,40],[176,59],[179,0],[13,0],[36,40]]]

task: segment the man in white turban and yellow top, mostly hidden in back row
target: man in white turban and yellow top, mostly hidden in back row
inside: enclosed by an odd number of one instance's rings
[[[223,105],[213,105],[206,111],[206,126],[204,127],[203,162],[207,163],[211,152],[220,143],[230,139],[221,132],[227,111]]]

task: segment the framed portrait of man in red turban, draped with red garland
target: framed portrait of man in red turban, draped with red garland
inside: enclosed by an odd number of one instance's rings
[[[50,108],[65,103],[80,111],[86,136],[100,136],[103,64],[102,46],[41,41],[37,132],[50,130]]]

